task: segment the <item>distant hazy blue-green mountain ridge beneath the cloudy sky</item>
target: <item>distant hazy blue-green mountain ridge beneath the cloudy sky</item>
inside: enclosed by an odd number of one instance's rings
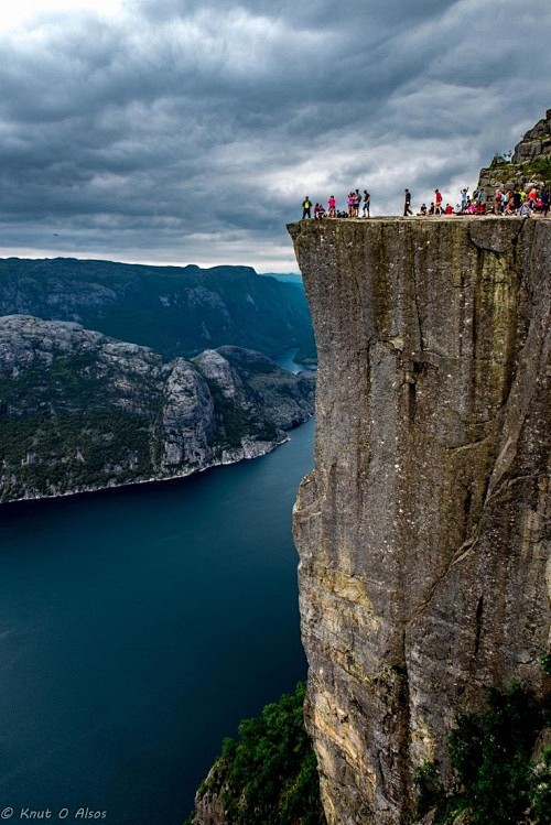
[[[74,321],[169,359],[223,345],[315,354],[304,290],[248,267],[0,259],[0,315],[14,314]]]

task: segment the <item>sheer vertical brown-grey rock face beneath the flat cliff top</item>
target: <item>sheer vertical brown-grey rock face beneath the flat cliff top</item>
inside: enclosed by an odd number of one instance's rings
[[[549,650],[551,221],[290,225],[320,357],[294,513],[307,726],[332,825]]]

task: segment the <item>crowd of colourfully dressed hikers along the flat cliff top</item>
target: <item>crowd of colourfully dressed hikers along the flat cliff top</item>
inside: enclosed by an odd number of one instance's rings
[[[452,206],[446,203],[444,206],[442,193],[434,189],[434,199],[430,206],[421,204],[417,215],[419,217],[429,217],[431,215],[519,215],[529,217],[532,214],[540,214],[548,217],[551,202],[549,187],[543,187],[538,192],[532,186],[528,193],[523,188],[510,188],[507,192],[496,189],[494,203],[488,204],[485,198],[483,188],[477,188],[472,195],[468,194],[468,186],[465,186],[460,193],[460,202]],[[302,219],[313,217],[318,218],[369,218],[370,217],[371,197],[367,189],[360,194],[359,189],[350,191],[347,195],[347,210],[337,209],[334,195],[327,199],[327,208],[323,204],[312,204],[306,195],[302,203]],[[361,215],[360,215],[361,211]],[[411,192],[403,191],[403,217],[414,215],[411,208]]]

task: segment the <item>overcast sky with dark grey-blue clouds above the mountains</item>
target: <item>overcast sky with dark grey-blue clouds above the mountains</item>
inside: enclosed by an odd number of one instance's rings
[[[296,271],[305,194],[457,200],[551,107],[550,0],[14,0],[0,257]]]

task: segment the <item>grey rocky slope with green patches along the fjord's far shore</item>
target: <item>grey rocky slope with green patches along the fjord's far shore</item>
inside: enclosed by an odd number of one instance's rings
[[[71,322],[0,318],[0,501],[252,458],[313,409],[314,378],[227,346],[192,361]]]

